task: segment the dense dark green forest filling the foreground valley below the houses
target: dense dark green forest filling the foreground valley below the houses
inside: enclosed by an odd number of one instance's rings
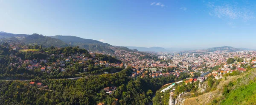
[[[96,105],[99,102],[105,105],[146,105],[151,102],[154,91],[165,83],[182,80],[187,77],[181,74],[161,78],[129,77],[131,68],[116,74],[105,74],[81,78],[79,80],[44,80],[44,85],[50,90],[28,86],[28,82],[0,80],[0,104],[11,105]],[[103,88],[116,86],[117,90],[108,95]]]

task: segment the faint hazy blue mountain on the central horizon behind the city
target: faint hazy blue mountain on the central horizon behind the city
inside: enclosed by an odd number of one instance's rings
[[[165,48],[162,48],[162,47],[134,47],[134,46],[125,46],[131,50],[138,50],[138,51],[143,51],[143,52],[148,52],[148,51],[151,51],[151,52],[169,52],[169,50],[166,50]]]

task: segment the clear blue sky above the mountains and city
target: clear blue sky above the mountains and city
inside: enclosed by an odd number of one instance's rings
[[[256,48],[255,0],[0,0],[0,31],[118,46]]]

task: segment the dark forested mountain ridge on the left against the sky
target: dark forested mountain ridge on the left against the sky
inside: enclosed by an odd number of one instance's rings
[[[130,50],[127,47],[115,47],[108,43],[102,43],[92,39],[83,39],[76,36],[43,36],[39,34],[13,34],[0,32],[0,42],[20,42],[29,45],[42,45],[43,47],[67,47],[67,46],[79,46],[89,51],[96,52],[109,52],[113,53],[115,50],[126,50],[130,52],[137,52],[137,50]]]

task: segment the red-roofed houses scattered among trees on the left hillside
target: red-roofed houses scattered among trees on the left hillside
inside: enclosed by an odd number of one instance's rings
[[[48,52],[38,52],[38,53],[46,53],[48,54]],[[68,56],[65,57],[63,53],[59,54],[59,55],[49,55],[49,58],[45,58],[45,59],[32,59],[32,60],[22,60],[20,57],[17,57],[16,55],[10,55],[10,57],[15,58],[17,60],[16,63],[11,63],[10,65],[18,65],[17,67],[21,67],[23,64],[26,64],[26,69],[30,69],[30,70],[34,70],[34,69],[40,69],[41,72],[65,72],[67,66],[73,66],[74,63],[78,63],[78,64],[85,64],[86,62],[89,62],[90,60],[94,62],[95,66],[105,66],[105,67],[111,67],[111,66],[115,66],[115,67],[123,67],[124,64],[119,64],[119,63],[108,63],[107,61],[99,61],[98,59],[96,59],[95,54],[94,53],[90,53],[90,55],[92,56],[92,58],[88,58],[85,57],[84,54],[74,54],[72,56]],[[52,58],[52,56],[54,56],[54,58],[56,58],[57,60],[54,62],[49,62],[50,58]],[[44,63],[43,66],[41,63]],[[86,71],[86,69],[84,69],[84,71]]]

